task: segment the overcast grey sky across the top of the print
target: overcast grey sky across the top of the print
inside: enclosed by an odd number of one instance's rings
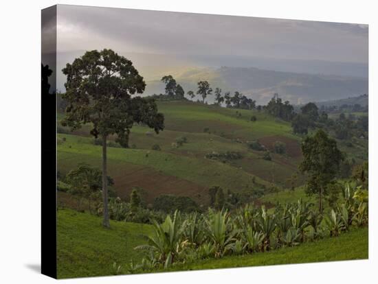
[[[368,26],[58,5],[58,51],[368,62]]]

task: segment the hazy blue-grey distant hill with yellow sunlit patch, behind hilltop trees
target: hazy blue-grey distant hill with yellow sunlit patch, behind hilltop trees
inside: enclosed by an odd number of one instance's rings
[[[368,93],[368,80],[337,75],[314,75],[291,73],[257,68],[221,67],[173,69],[171,75],[185,91],[197,90],[199,80],[208,80],[213,88],[224,91],[241,91],[266,104],[274,93],[293,104],[322,102],[329,98],[344,99]],[[164,93],[164,84],[159,80],[147,81],[146,94]],[[209,97],[212,102],[212,97]]]

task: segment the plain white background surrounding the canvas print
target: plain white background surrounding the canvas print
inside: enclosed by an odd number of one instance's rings
[[[369,24],[369,260],[73,279],[61,283],[377,283],[377,57],[375,1],[63,1],[61,4]],[[0,283],[52,283],[41,259],[41,9],[54,1],[2,1],[0,34]],[[146,19],[148,21],[148,19]],[[374,80],[375,79],[375,80]],[[374,90],[375,87],[375,90]]]

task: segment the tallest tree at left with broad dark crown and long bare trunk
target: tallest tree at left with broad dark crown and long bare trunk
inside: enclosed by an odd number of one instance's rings
[[[109,227],[107,190],[107,138],[116,134],[117,142],[128,147],[133,123],[144,123],[155,132],[163,130],[164,116],[157,112],[154,99],[131,97],[143,93],[146,83],[133,62],[111,49],[87,51],[62,70],[67,75],[67,100],[63,126],[76,130],[91,123],[91,134],[102,139],[103,226]]]

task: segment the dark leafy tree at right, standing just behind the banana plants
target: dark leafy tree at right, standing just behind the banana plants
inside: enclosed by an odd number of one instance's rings
[[[344,155],[337,148],[335,139],[322,129],[302,141],[302,153],[304,160],[300,170],[309,174],[307,193],[319,196],[319,211],[322,213],[322,198],[328,194],[327,187],[337,176]]]

